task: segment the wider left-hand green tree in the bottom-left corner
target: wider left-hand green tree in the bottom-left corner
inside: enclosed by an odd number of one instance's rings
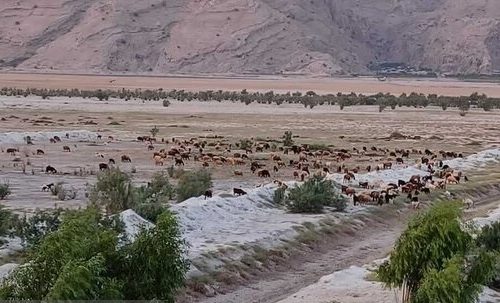
[[[46,235],[28,262],[3,282],[2,299],[102,298],[105,285],[90,281],[106,279],[105,268],[119,265],[112,264],[118,258],[117,245],[118,233],[101,224],[98,210],[67,213],[60,228]]]

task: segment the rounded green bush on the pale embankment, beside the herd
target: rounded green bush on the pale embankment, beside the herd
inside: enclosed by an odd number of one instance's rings
[[[342,211],[347,201],[335,188],[331,180],[313,176],[302,185],[291,188],[286,205],[294,213],[320,213],[325,206]]]

